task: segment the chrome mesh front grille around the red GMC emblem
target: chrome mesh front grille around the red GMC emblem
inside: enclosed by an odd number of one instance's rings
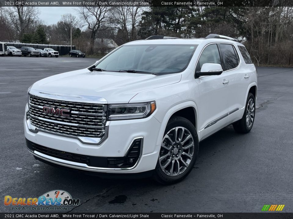
[[[49,114],[43,107],[70,110],[69,116]],[[107,106],[94,103],[78,103],[46,99],[30,95],[28,116],[39,130],[57,134],[102,137],[105,133]]]

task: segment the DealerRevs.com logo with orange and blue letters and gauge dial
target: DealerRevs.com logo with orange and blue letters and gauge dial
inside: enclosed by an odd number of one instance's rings
[[[72,206],[79,205],[80,199],[73,199],[63,190],[52,190],[34,198],[4,197],[4,205],[11,206],[12,210],[71,210]]]

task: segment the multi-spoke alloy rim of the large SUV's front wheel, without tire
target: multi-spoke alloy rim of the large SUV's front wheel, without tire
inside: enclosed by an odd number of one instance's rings
[[[188,166],[194,155],[194,139],[184,127],[172,128],[165,134],[161,143],[159,164],[168,176],[179,176]]]

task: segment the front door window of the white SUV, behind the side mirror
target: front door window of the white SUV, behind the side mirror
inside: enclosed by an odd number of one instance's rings
[[[205,63],[221,64],[220,54],[217,44],[207,46],[201,53],[201,57],[198,60],[196,71],[200,71],[201,67]]]

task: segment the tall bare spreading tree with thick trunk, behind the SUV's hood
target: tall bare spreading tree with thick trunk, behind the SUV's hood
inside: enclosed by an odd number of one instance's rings
[[[96,0],[92,0],[97,6],[83,6],[77,9],[82,19],[87,23],[88,30],[91,33],[90,36],[90,54],[93,54],[94,43],[96,35],[100,30],[106,30],[110,28],[111,13],[113,10],[111,7],[97,4]]]

